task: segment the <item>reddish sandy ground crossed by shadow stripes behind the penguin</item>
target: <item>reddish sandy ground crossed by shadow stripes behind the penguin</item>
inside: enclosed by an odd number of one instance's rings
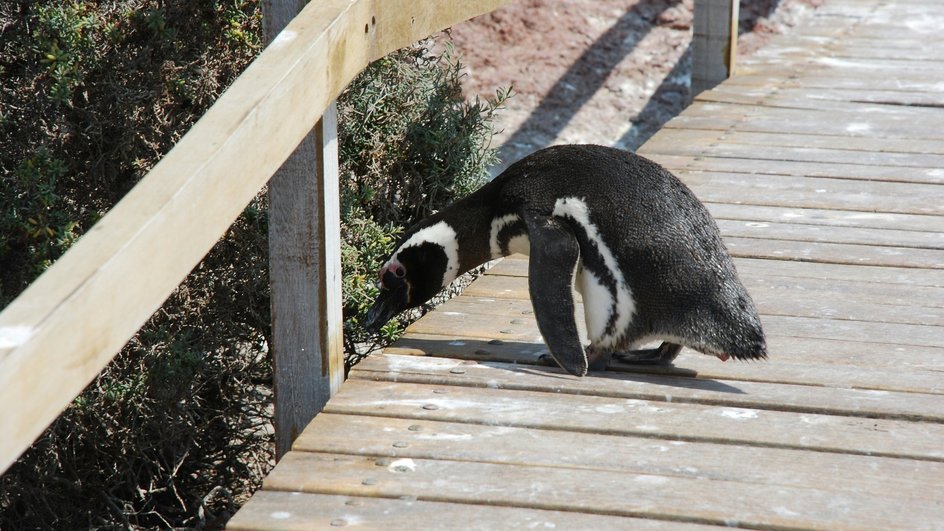
[[[742,0],[739,55],[823,1]],[[503,166],[554,144],[639,147],[688,101],[692,9],[693,0],[517,0],[452,28],[466,95],[514,91],[496,124]]]

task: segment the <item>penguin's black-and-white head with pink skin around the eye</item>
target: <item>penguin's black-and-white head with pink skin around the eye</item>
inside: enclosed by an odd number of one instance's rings
[[[366,328],[376,333],[403,310],[422,305],[458,275],[456,233],[440,221],[411,229],[380,268],[380,294],[367,312]]]

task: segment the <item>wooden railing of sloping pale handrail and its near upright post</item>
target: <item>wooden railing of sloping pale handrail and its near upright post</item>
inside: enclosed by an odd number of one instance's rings
[[[332,101],[369,62],[507,1],[314,0],[294,18],[304,0],[267,1],[269,46],[134,189],[0,314],[0,472],[267,182],[276,429],[284,452],[343,377]],[[733,0],[696,0],[696,17],[717,2],[730,10]]]

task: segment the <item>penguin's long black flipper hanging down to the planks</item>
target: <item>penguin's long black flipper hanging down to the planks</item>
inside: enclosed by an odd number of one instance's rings
[[[587,374],[587,355],[574,316],[574,273],[580,259],[577,238],[553,218],[523,215],[531,242],[528,290],[538,329],[551,356],[567,372]]]

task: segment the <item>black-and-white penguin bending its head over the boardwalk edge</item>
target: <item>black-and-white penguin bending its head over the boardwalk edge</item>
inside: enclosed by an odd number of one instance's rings
[[[754,302],[705,206],[657,163],[597,145],[536,151],[408,229],[380,268],[368,330],[513,253],[530,256],[538,328],[571,374],[612,357],[670,365],[682,347],[721,361],[767,357]],[[656,340],[658,348],[636,350]]]

